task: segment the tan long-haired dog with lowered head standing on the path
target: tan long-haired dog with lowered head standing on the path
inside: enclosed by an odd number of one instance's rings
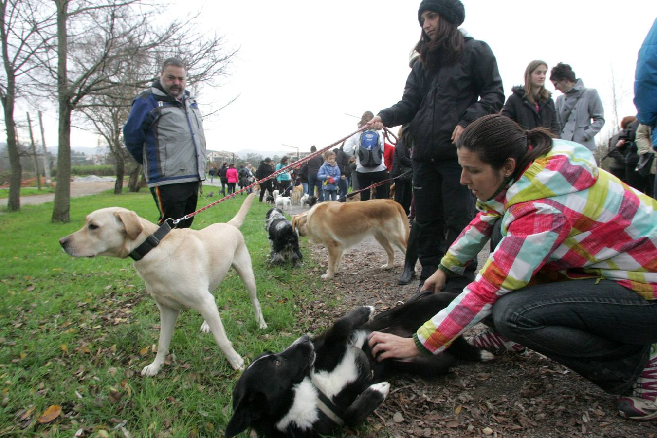
[[[392,245],[406,253],[409,236],[409,220],[403,207],[390,199],[322,202],[292,216],[292,228],[328,249],[328,269],[322,278],[333,278],[344,250],[370,235],[388,255],[388,263],[382,268],[392,267],[395,261]]]

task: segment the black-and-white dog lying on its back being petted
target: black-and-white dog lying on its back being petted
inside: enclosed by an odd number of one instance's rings
[[[357,307],[316,338],[302,336],[281,353],[263,353],[233,389],[226,436],[248,427],[265,437],[317,437],[364,422],[388,396],[394,374],[433,378],[457,359],[489,361],[491,353],[457,338],[444,353],[376,362],[367,336],[383,331],[411,337],[456,294],[425,294],[376,315]]]

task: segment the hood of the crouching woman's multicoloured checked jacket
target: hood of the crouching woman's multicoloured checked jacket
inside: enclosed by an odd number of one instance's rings
[[[550,152],[537,158],[494,198],[477,202],[477,207],[503,215],[515,204],[586,190],[597,179],[598,166],[588,148],[576,142],[555,139]]]

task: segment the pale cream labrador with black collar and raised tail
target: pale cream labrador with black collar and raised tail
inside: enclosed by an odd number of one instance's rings
[[[146,283],[150,296],[160,309],[160,342],[155,360],[142,376],[160,372],[169,352],[173,326],[181,310],[194,309],[205,318],[203,332],[212,331],[217,345],[235,370],[244,361],[233,349],[219,318],[212,292],[233,267],[242,278],[251,297],[260,328],[266,328],[260,301],[256,296],[256,279],[251,257],[239,227],[256,194],[246,197],[237,215],[228,223],[215,223],[202,230],[173,229],[134,266]],[[112,207],[87,215],[82,229],[59,240],[64,251],[75,257],[108,255],[125,259],[158,226],[137,216],[134,211]]]

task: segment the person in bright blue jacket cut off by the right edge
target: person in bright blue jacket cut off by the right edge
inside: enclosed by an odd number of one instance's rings
[[[657,18],[639,49],[634,75],[634,105],[639,123],[652,129],[652,148],[657,150]],[[657,197],[657,178],[652,193]]]

